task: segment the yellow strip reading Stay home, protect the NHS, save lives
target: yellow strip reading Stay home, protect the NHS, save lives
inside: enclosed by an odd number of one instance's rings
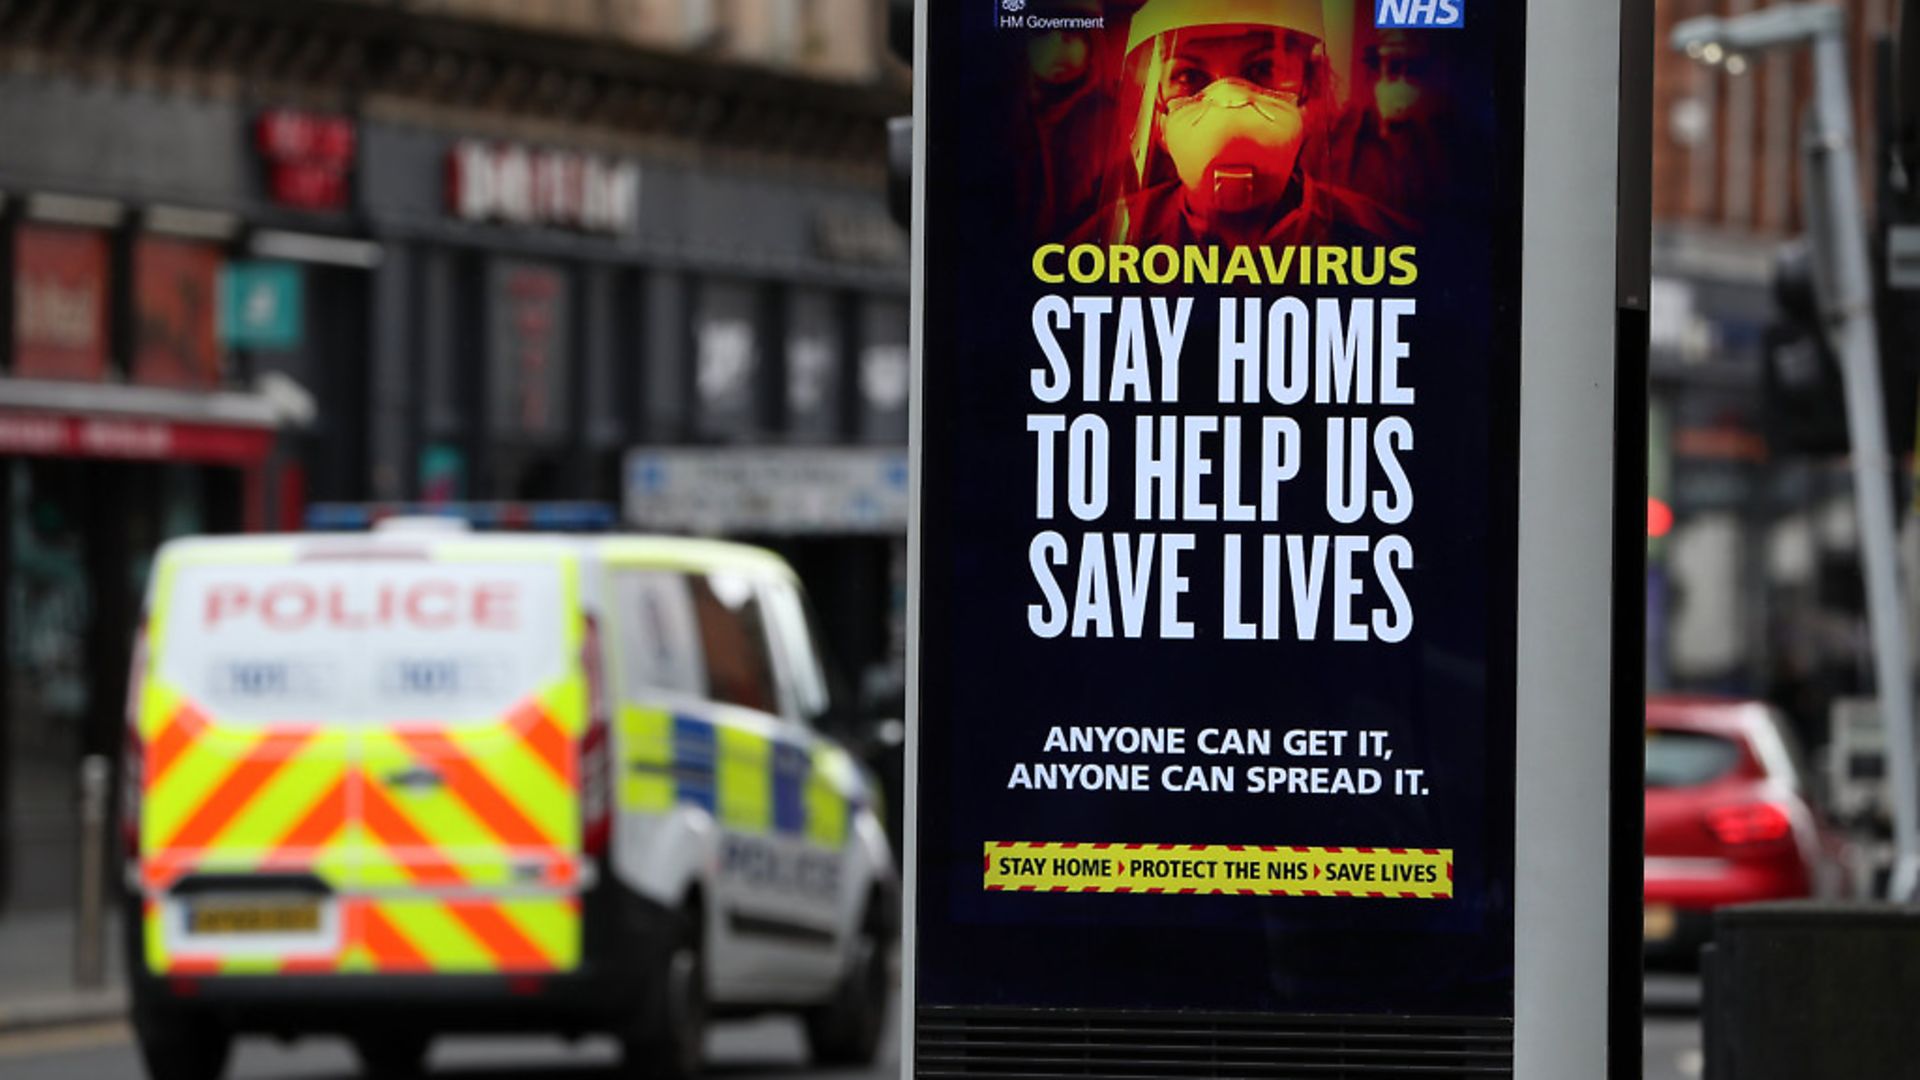
[[[987,892],[1452,899],[1446,847],[989,840]]]

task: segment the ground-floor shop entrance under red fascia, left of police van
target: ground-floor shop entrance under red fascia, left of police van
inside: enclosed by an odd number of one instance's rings
[[[265,423],[0,407],[0,896],[71,903],[79,761],[111,755],[154,550],[265,513]]]

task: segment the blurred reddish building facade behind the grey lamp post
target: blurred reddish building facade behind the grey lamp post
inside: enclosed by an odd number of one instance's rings
[[[1776,254],[1805,219],[1811,61],[1784,50],[1707,67],[1667,46],[1682,19],[1759,6],[1657,4],[1649,496],[1670,517],[1649,538],[1647,675],[1653,688],[1768,696],[1820,742],[1832,698],[1862,686],[1866,638],[1843,450],[1797,454],[1778,438],[1791,404],[1768,379]],[[1872,217],[1885,177],[1882,42],[1899,6],[1841,8]]]

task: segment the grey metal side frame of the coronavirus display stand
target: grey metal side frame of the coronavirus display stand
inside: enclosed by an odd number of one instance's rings
[[[927,0],[914,69],[925,71]],[[1638,653],[1651,4],[1526,12],[1515,824],[1515,1076],[1640,1076]],[[1617,40],[1619,50],[1592,48]],[[1632,79],[1622,79],[1630,75]],[[925,79],[914,115],[925,117]],[[1571,123],[1582,117],[1584,123]],[[1599,136],[1596,138],[1596,133]],[[914,125],[908,730],[920,740],[925,123]],[[1622,452],[1622,446],[1626,448]],[[1636,450],[1638,446],[1638,450]],[[1640,471],[1636,473],[1636,463]],[[1605,613],[1605,619],[1597,619]],[[1601,763],[1605,763],[1601,767]],[[906,771],[900,1068],[914,1074],[918,776]]]

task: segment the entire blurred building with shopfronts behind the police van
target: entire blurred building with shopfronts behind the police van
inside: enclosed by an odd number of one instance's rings
[[[881,33],[874,0],[0,10],[0,905],[71,894],[165,536],[372,500],[684,528],[682,473],[799,448],[904,490]],[[693,525],[785,550],[885,671],[904,517],[835,477]]]

